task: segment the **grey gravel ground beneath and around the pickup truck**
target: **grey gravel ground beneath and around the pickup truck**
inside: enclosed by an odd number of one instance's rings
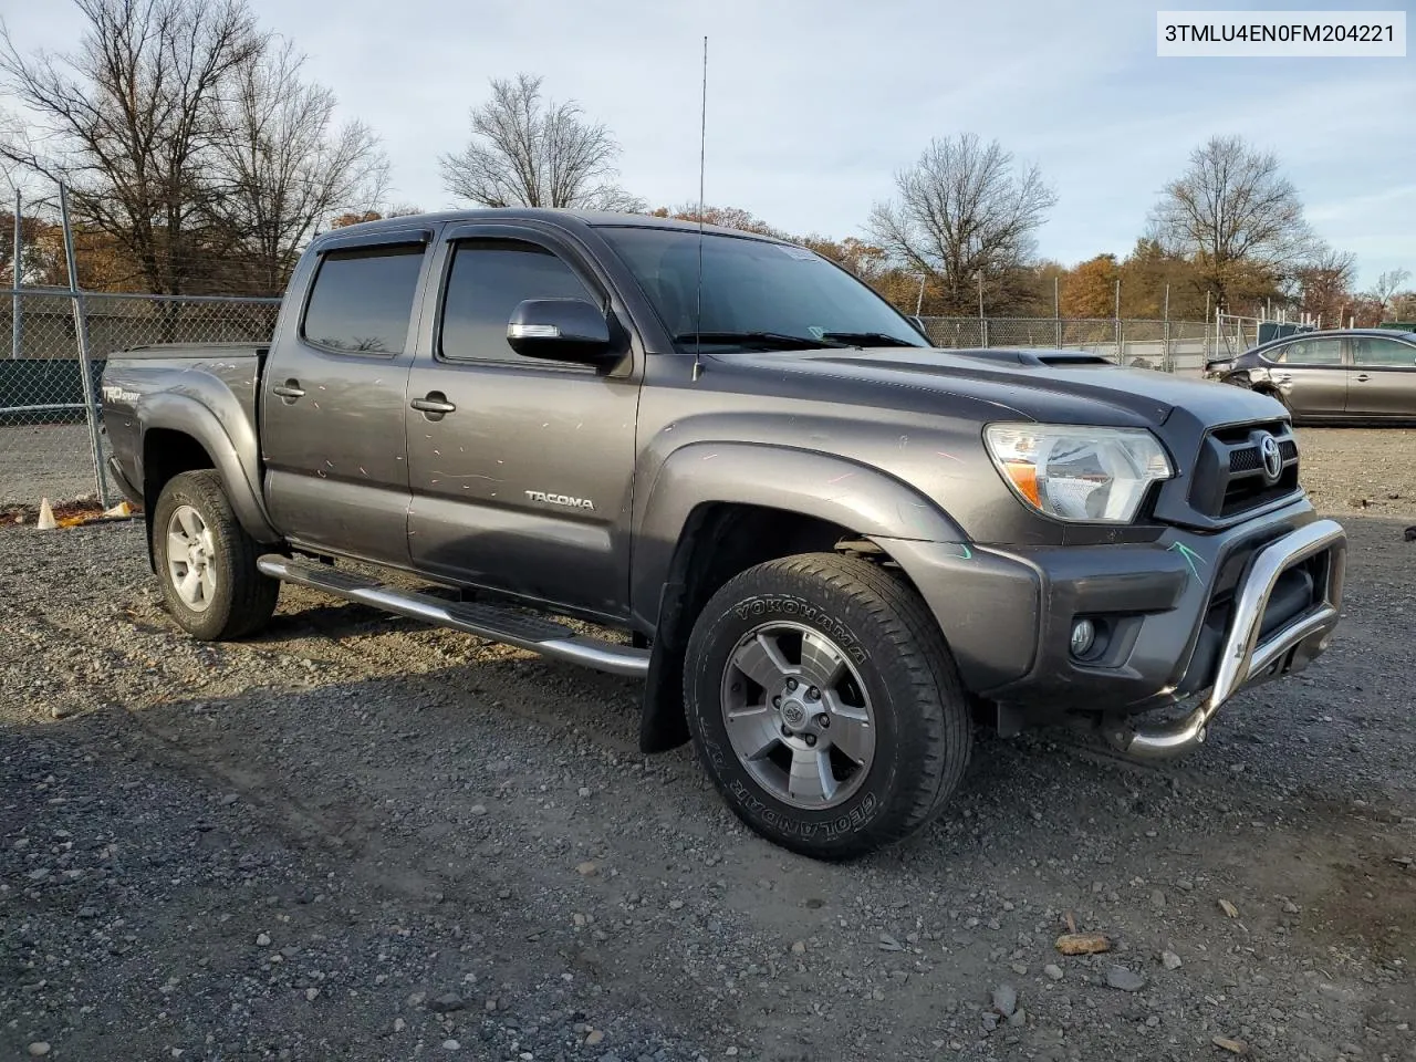
[[[292,588],[200,646],[140,524],[0,530],[0,1058],[1413,1059],[1416,433],[1301,439],[1325,657],[1180,763],[983,739],[841,867],[629,681]]]

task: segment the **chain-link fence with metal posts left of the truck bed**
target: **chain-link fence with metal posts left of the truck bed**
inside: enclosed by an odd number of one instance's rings
[[[154,343],[265,343],[279,307],[279,299],[0,293],[0,507],[41,497],[112,501],[96,408],[110,353]]]

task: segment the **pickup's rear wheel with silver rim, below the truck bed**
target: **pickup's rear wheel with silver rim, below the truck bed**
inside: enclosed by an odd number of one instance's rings
[[[153,510],[153,559],[177,624],[200,641],[229,641],[263,627],[280,582],[231,510],[215,472],[173,476]]]

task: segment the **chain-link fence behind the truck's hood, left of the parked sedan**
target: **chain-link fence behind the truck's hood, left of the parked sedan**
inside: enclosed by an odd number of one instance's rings
[[[1205,321],[1116,317],[920,317],[937,347],[1085,350],[1121,365],[1198,374],[1214,343]]]

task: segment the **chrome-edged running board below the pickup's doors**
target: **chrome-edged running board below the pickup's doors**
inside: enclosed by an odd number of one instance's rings
[[[649,650],[576,634],[566,626],[541,616],[527,616],[494,605],[450,602],[430,593],[401,590],[377,579],[340,571],[333,565],[266,554],[256,566],[280,582],[293,582],[336,598],[370,605],[396,616],[452,627],[467,634],[528,649],[541,656],[583,664],[596,671],[643,678],[649,674]]]

